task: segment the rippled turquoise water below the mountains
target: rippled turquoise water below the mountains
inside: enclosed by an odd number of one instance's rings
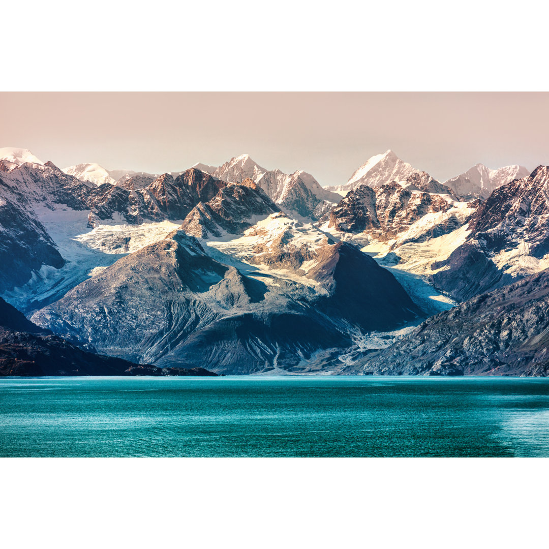
[[[549,379],[1,378],[0,456],[549,456]]]

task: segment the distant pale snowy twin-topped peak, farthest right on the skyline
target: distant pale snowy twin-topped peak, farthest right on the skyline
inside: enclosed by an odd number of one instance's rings
[[[484,164],[477,164],[445,181],[444,184],[453,189],[458,196],[468,200],[486,199],[494,189],[528,175],[530,171],[524,166],[512,165],[490,169]]]

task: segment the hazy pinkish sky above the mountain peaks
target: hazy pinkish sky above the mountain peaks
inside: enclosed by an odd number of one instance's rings
[[[0,148],[59,167],[181,171],[248,153],[345,183],[386,149],[444,181],[549,164],[549,93],[0,93]]]

